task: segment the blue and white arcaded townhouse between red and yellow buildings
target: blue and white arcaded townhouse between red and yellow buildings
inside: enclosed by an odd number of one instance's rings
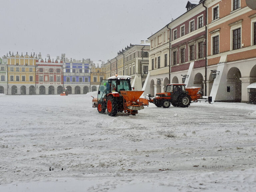
[[[68,60],[63,54],[63,81],[64,87],[68,89],[69,94],[86,94],[90,92],[90,59]]]

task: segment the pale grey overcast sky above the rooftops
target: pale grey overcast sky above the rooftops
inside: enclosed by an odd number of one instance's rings
[[[65,53],[69,59],[107,61],[186,12],[186,4],[187,0],[3,0],[0,55],[41,52],[43,58],[55,58]]]

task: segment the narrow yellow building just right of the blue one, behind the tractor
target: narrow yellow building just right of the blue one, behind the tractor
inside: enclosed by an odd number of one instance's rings
[[[102,62],[101,67],[99,64],[96,65],[93,63],[91,68],[91,91],[97,91],[102,79],[106,79],[106,67],[104,62]]]

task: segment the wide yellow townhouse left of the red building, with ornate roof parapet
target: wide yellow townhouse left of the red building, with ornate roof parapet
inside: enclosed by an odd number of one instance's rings
[[[35,67],[37,56],[7,55],[8,66],[8,94],[34,95],[35,94]]]

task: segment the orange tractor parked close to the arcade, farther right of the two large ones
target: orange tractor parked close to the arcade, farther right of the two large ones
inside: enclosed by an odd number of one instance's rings
[[[155,97],[148,95],[148,102],[154,103],[157,107],[168,108],[188,107],[191,102],[197,102],[202,98],[199,91],[201,87],[185,87],[185,84],[167,84],[164,93],[157,93]]]

